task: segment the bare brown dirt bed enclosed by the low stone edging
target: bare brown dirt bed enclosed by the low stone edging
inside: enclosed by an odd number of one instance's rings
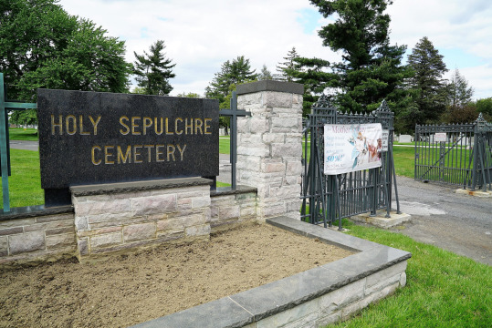
[[[349,256],[294,233],[248,225],[210,241],[79,264],[1,269],[1,327],[127,327]]]

